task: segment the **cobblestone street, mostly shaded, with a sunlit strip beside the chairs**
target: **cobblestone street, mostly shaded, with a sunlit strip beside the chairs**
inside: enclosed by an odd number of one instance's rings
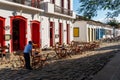
[[[92,80],[94,75],[119,52],[118,43],[104,44],[100,49],[53,60],[37,70],[0,67],[0,80]]]

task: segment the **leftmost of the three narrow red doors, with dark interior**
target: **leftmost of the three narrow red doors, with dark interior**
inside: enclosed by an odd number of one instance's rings
[[[50,46],[54,45],[54,40],[55,40],[55,36],[54,36],[54,22],[49,22],[50,25]]]

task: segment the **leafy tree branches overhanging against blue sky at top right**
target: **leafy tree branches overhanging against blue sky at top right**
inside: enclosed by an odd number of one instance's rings
[[[91,19],[97,16],[97,10],[110,10],[107,17],[115,17],[120,14],[120,0],[79,0],[78,13]],[[102,14],[102,13],[101,13]]]

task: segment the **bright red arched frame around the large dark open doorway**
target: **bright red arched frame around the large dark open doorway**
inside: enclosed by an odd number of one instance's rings
[[[27,38],[26,38],[26,34],[27,34],[27,18],[25,18],[25,17],[23,17],[23,16],[10,16],[10,34],[12,35],[12,32],[13,32],[13,20],[14,19],[20,19],[20,20],[22,20],[22,21],[25,21],[25,44],[23,45],[23,44],[21,44],[21,42],[20,42],[20,44],[22,45],[22,47],[23,46],[25,46],[26,44],[27,44]],[[21,36],[23,36],[23,35],[21,35]],[[23,41],[23,40],[21,40],[21,41]],[[11,52],[13,52],[13,40],[11,39],[11,41],[10,41],[10,44],[11,44]]]

